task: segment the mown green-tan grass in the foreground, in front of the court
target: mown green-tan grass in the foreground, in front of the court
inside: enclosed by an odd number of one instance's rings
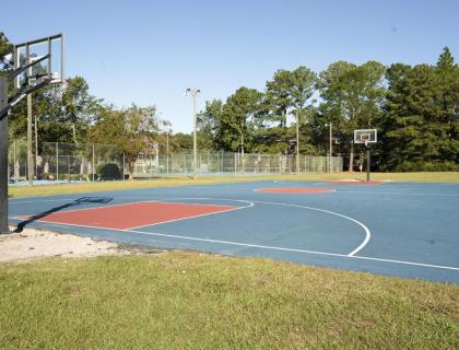
[[[172,252],[0,265],[2,349],[459,349],[459,287]]]

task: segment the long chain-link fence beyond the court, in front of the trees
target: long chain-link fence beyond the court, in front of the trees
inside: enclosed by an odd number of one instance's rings
[[[47,179],[97,180],[104,164],[116,164],[120,174],[128,175],[123,154],[110,144],[74,144],[44,142],[34,154],[35,174]],[[299,173],[342,172],[341,156],[299,155]],[[13,179],[26,177],[27,151],[25,141],[12,141],[9,148],[9,174]],[[192,175],[193,154],[141,154],[133,166],[133,177],[157,175]],[[272,175],[296,174],[296,156],[281,154],[249,154],[199,151],[198,175]]]

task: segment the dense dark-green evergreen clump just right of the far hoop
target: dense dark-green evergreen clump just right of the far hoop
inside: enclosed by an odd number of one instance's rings
[[[392,65],[387,80],[384,170],[457,170],[459,69],[449,50],[436,66]]]

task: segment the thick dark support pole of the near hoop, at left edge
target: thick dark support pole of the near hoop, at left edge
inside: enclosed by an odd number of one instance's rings
[[[8,78],[0,77],[0,110],[8,106]],[[8,226],[8,112],[0,115],[0,234],[10,233]]]

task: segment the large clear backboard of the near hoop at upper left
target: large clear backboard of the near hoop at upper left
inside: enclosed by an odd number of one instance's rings
[[[15,69],[38,61],[15,78],[14,86],[21,90],[34,86],[44,80],[51,84],[61,83],[64,73],[63,52],[62,34],[14,45]]]

